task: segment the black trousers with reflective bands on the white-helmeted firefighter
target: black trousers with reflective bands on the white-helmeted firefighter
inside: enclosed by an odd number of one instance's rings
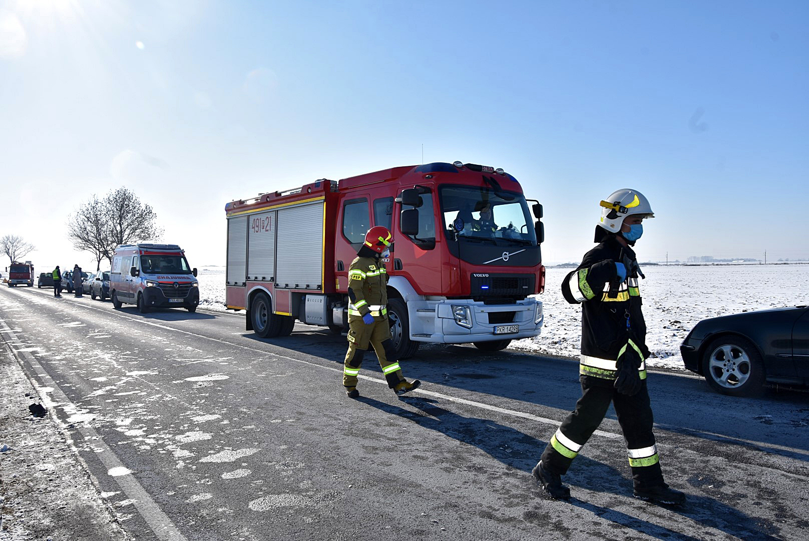
[[[612,381],[594,383],[587,376],[580,379],[582,398],[578,399],[576,409],[562,422],[545,447],[541,458],[543,466],[564,475],[582,446],[599,428],[612,403],[621,431],[624,432],[635,488],[646,489],[663,484],[663,472],[654,445],[654,417],[646,380],[637,394],[627,396],[615,390]]]

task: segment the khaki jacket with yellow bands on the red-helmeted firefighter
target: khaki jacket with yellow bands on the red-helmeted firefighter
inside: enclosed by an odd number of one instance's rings
[[[357,257],[349,267],[349,318],[371,313],[379,321],[388,314],[388,272],[379,258]]]

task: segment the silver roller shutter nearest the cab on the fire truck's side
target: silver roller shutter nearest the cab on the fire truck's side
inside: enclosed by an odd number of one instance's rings
[[[278,210],[277,288],[322,290],[323,202]]]

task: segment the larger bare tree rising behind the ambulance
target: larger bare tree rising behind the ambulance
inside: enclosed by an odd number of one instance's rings
[[[96,269],[106,258],[112,265],[117,245],[156,239],[163,235],[157,215],[150,205],[124,187],[99,199],[97,196],[79,207],[67,222],[68,236],[76,249],[93,253]]]

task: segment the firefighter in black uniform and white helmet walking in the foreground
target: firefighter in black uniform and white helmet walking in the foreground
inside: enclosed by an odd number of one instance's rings
[[[555,499],[570,498],[561,483],[570,463],[615,406],[632,469],[633,496],[659,504],[683,504],[683,492],[663,481],[652,433],[652,410],[646,390],[646,323],[632,246],[643,232],[642,220],[654,218],[637,190],[618,190],[602,201],[595,246],[568,274],[561,290],[571,304],[582,304],[582,397],[545,448],[532,474]]]

